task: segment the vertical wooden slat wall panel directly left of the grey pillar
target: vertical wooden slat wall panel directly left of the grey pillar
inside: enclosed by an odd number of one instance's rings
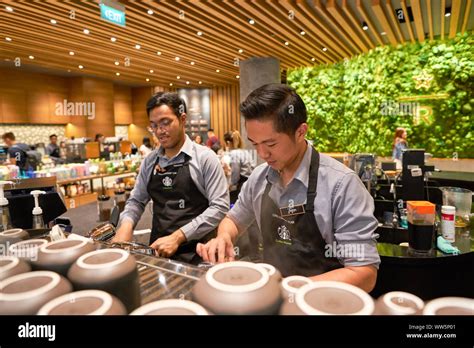
[[[226,132],[240,132],[239,100],[239,85],[211,89],[211,128],[222,144]]]

